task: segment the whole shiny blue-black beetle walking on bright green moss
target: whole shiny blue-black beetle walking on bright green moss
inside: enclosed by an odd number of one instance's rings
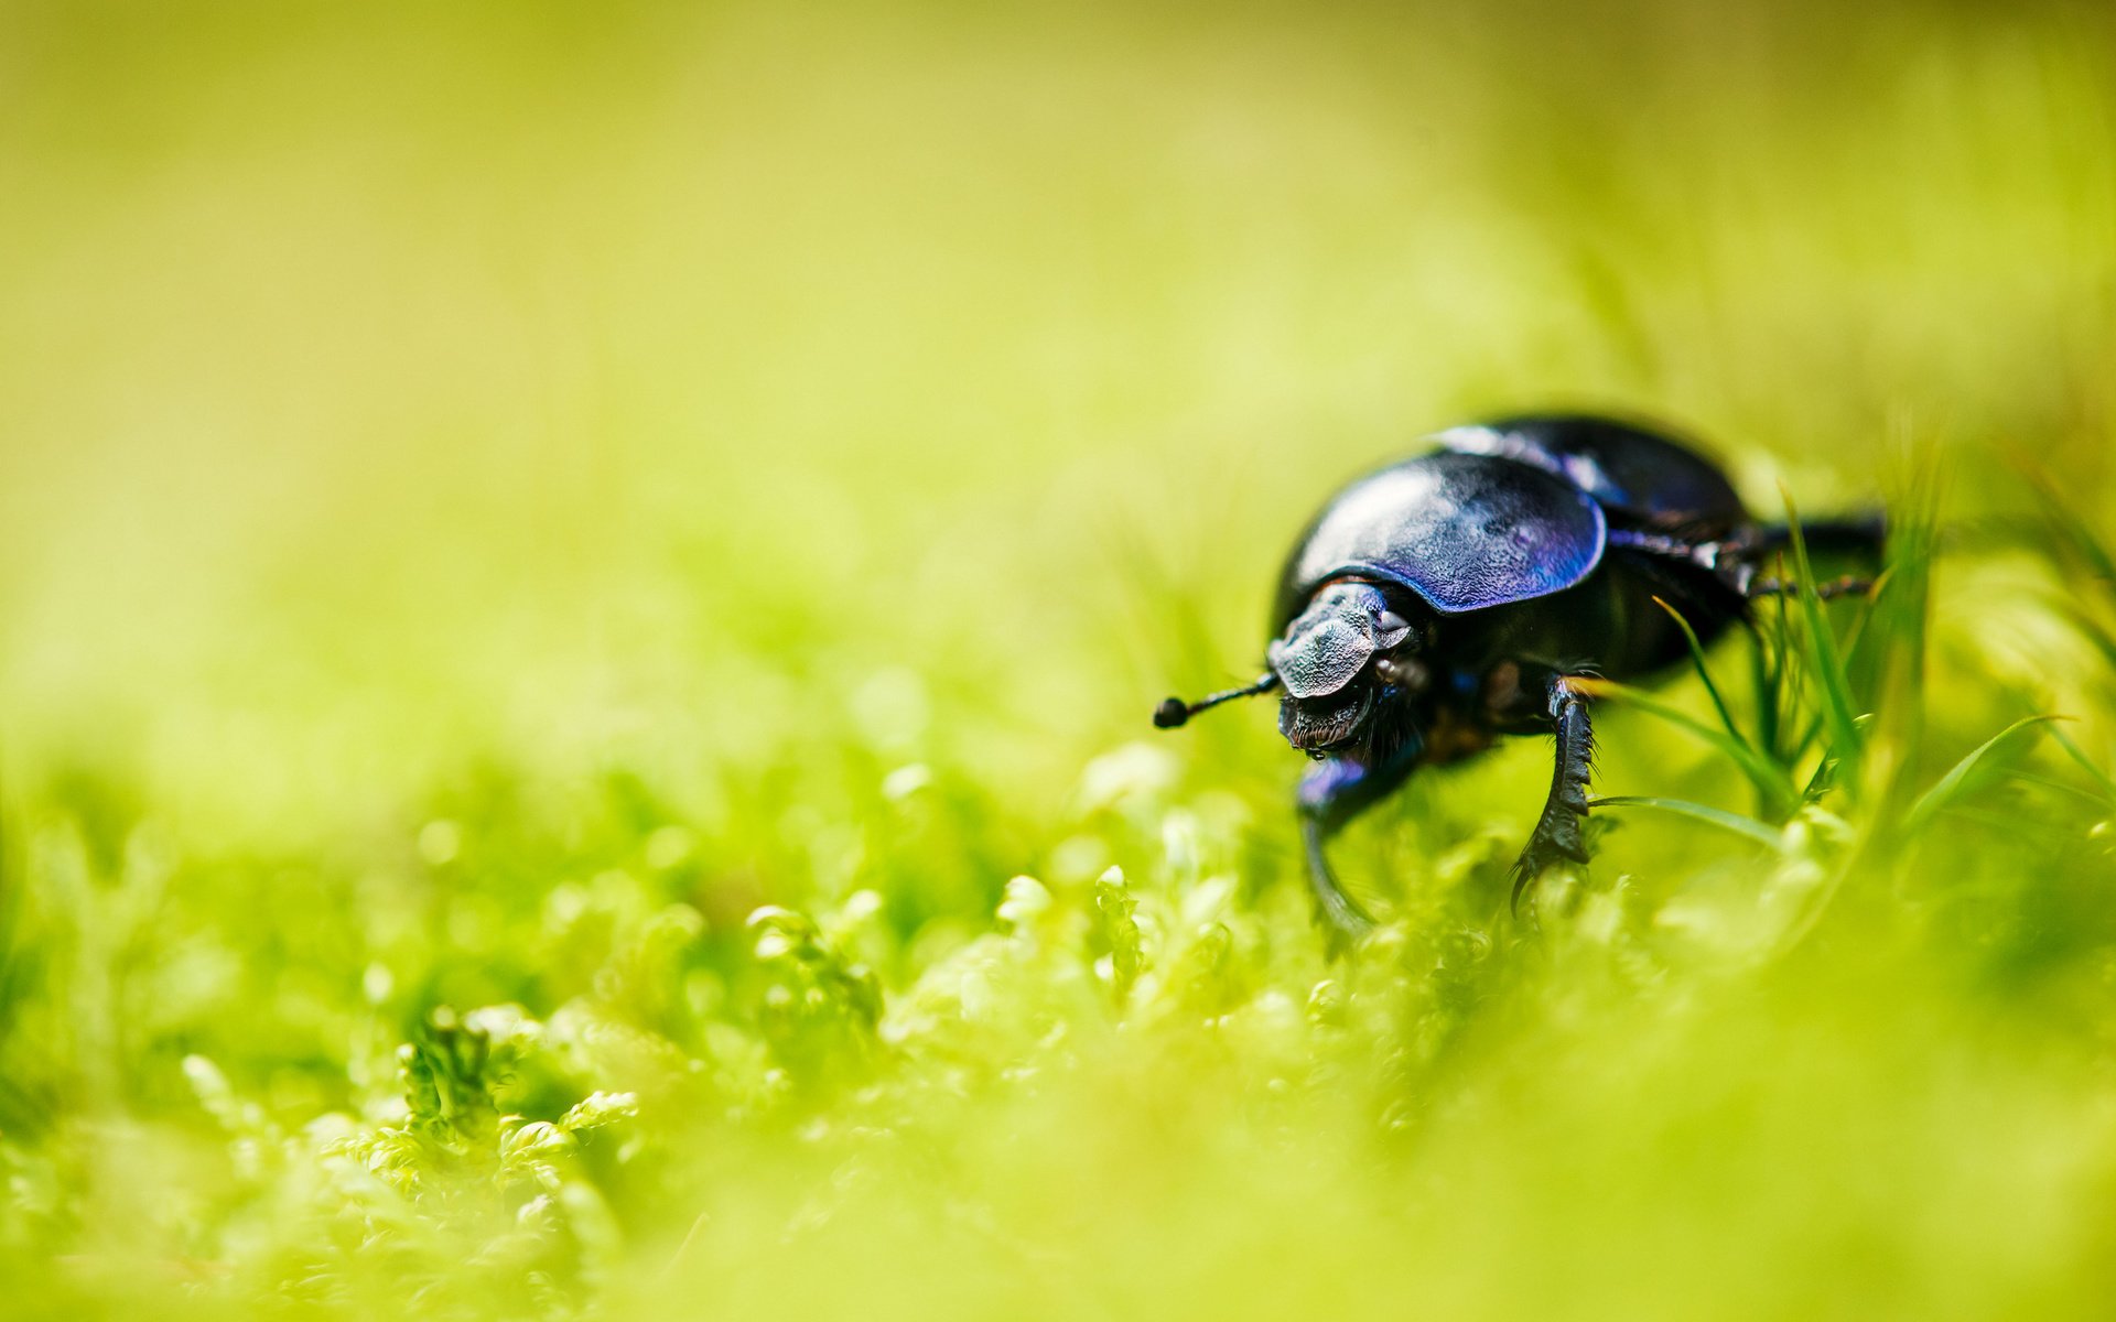
[[[1301,533],[1278,580],[1261,679],[1153,713],[1166,730],[1280,690],[1278,730],[1316,761],[1297,793],[1301,833],[1318,910],[1342,937],[1373,920],[1331,874],[1329,838],[1416,768],[1481,753],[1500,734],[1557,740],[1515,899],[1559,859],[1585,863],[1591,679],[1689,656],[1655,599],[1710,643],[1746,622],[1752,601],[1784,590],[1761,569],[1786,529],[1750,518],[1718,467],[1665,436],[1534,415],[1433,440],[1437,451],[1339,491]],[[1881,520],[1803,533],[1818,548],[1877,550]]]

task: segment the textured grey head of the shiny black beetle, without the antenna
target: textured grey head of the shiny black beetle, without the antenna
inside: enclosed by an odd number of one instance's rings
[[[1327,584],[1270,647],[1278,677],[1278,732],[1303,753],[1361,742],[1384,692],[1416,685],[1418,630],[1382,588]]]

